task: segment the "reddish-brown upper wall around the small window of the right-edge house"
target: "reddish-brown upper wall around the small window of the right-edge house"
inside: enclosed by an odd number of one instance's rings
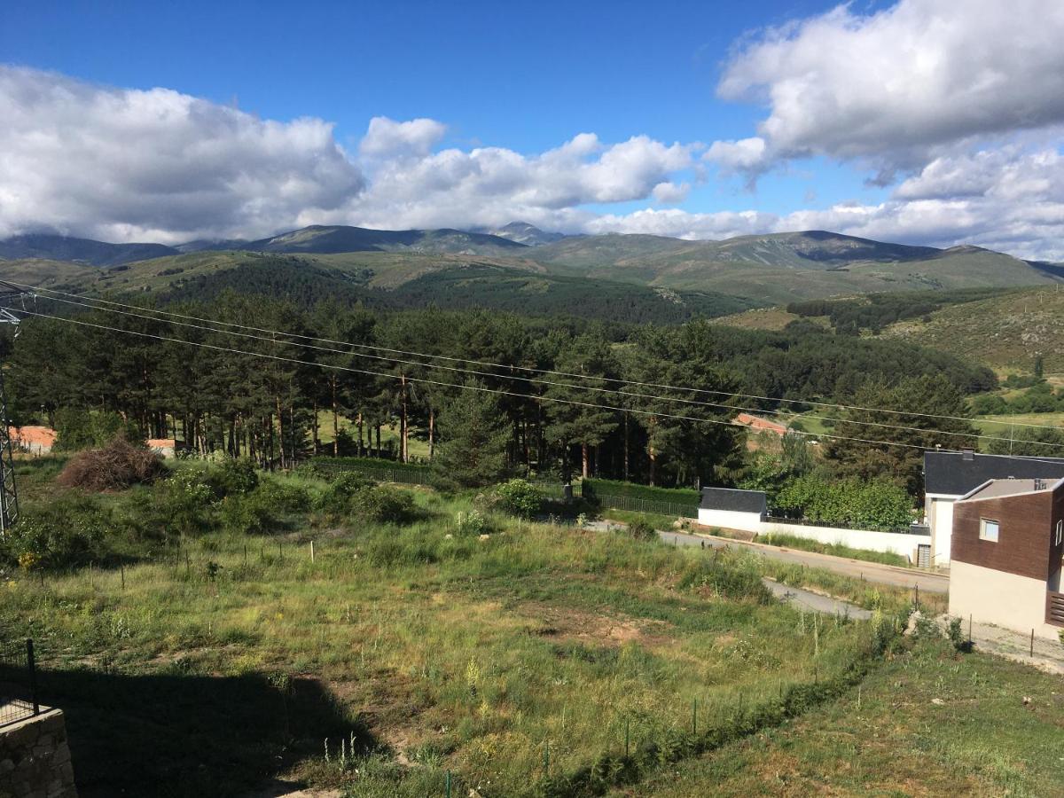
[[[951,559],[1047,580],[1061,562],[1061,550],[1053,546],[1053,525],[1064,517],[1059,513],[1064,514],[1064,491],[959,501],[953,505]],[[979,539],[981,518],[1001,525],[997,543]]]

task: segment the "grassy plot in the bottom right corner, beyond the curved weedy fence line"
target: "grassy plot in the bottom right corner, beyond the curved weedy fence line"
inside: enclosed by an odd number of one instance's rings
[[[1059,676],[929,642],[794,722],[616,795],[1060,795],[1062,734]]]

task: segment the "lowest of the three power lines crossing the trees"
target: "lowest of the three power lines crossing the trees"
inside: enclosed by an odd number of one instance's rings
[[[294,364],[302,365],[302,366],[317,366],[319,368],[333,369],[333,370],[337,370],[337,371],[350,371],[350,372],[354,372],[354,373],[369,375],[369,376],[373,376],[373,377],[384,377],[384,378],[392,379],[392,380],[405,379],[408,382],[419,382],[419,383],[429,384],[429,385],[442,385],[442,386],[445,386],[445,387],[459,388],[459,389],[462,389],[462,390],[479,390],[479,392],[483,392],[483,393],[487,393],[487,394],[497,394],[497,395],[500,395],[500,396],[513,396],[513,397],[518,397],[518,398],[521,398],[521,399],[531,399],[533,401],[541,400],[541,401],[549,401],[549,402],[560,402],[562,404],[571,404],[571,405],[577,405],[577,406],[582,406],[582,408],[596,408],[596,409],[599,409],[599,410],[611,410],[611,411],[615,411],[615,412],[618,412],[618,413],[635,413],[636,415],[652,416],[652,417],[655,417],[655,418],[674,418],[674,419],[681,420],[681,421],[695,421],[697,423],[713,423],[713,425],[720,425],[720,426],[724,426],[724,427],[733,427],[733,428],[736,426],[732,421],[720,421],[720,420],[712,419],[712,418],[697,418],[695,416],[682,416],[682,415],[678,415],[676,413],[659,413],[659,412],[655,412],[655,411],[636,410],[636,409],[633,409],[633,408],[617,408],[617,406],[613,406],[613,405],[609,405],[609,404],[596,404],[594,402],[583,402],[583,401],[578,401],[578,400],[575,400],[575,399],[562,399],[562,398],[559,398],[559,397],[549,397],[549,396],[534,396],[534,395],[531,395],[531,394],[521,394],[521,393],[518,393],[518,392],[504,390],[504,389],[501,389],[501,388],[489,388],[489,387],[481,386],[481,385],[467,385],[467,384],[461,384],[461,383],[445,382],[445,381],[442,381],[442,380],[430,380],[430,379],[423,378],[423,377],[405,377],[405,378],[403,378],[402,376],[388,373],[386,371],[373,371],[371,369],[354,368],[352,366],[337,366],[337,365],[331,364],[331,363],[316,363],[315,361],[304,361],[304,360],[299,360],[299,359],[296,359],[296,358],[284,358],[284,356],[279,355],[279,354],[269,354],[267,352],[252,352],[252,351],[249,351],[247,349],[236,349],[234,347],[223,347],[223,346],[218,346],[216,344],[206,344],[206,343],[203,343],[203,342],[186,340],[184,338],[173,338],[173,337],[169,337],[169,336],[166,336],[166,335],[156,335],[154,333],[146,333],[146,332],[140,332],[140,331],[137,331],[137,330],[122,330],[121,328],[117,328],[117,327],[110,327],[107,325],[99,325],[99,323],[95,323],[95,322],[92,322],[92,321],[82,321],[80,319],[66,318],[66,317],[63,317],[63,316],[53,316],[51,314],[38,313],[36,311],[19,310],[18,312],[19,313],[24,313],[24,314],[27,314],[29,316],[36,316],[36,317],[39,317],[39,318],[49,318],[49,319],[53,319],[55,321],[64,321],[64,322],[67,322],[67,323],[79,325],[81,327],[90,327],[90,328],[95,328],[95,329],[98,329],[98,330],[107,330],[110,332],[123,333],[123,334],[127,334],[127,335],[135,335],[137,337],[143,337],[143,338],[152,338],[152,339],[155,339],[155,340],[166,340],[166,342],[170,342],[170,343],[173,343],[173,344],[185,344],[185,345],[188,345],[188,346],[199,347],[199,348],[202,348],[202,349],[211,349],[211,350],[214,350],[214,351],[230,352],[230,353],[234,353],[234,354],[246,354],[246,355],[249,355],[249,356],[252,356],[252,358],[263,358],[263,359],[266,359],[266,360],[279,361],[279,362],[283,362],[283,363],[294,363]],[[280,342],[278,342],[278,343],[280,343]],[[903,447],[903,448],[907,448],[907,449],[919,449],[920,451],[926,451],[928,449],[928,447],[926,447],[926,446],[919,446],[917,444],[904,444],[904,443],[900,443],[900,442],[897,442],[897,440],[876,440],[876,439],[871,439],[871,438],[852,437],[852,436],[847,436],[847,435],[815,434],[815,433],[812,433],[812,432],[802,432],[802,431],[798,431],[798,430],[794,430],[793,432],[794,432],[794,434],[802,435],[804,437],[829,438],[829,439],[833,439],[833,440],[850,440],[850,442],[861,443],[861,444],[874,444],[874,445],[877,445],[877,446],[899,446],[899,447]],[[940,449],[940,451],[952,451],[952,452],[957,452],[957,453],[961,452],[960,449]],[[1015,459],[1016,460],[1031,460],[1031,458],[1015,458]]]

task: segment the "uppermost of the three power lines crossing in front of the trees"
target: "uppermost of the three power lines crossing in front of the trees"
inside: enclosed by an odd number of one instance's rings
[[[19,283],[12,283],[12,284],[13,285],[20,285]],[[668,384],[665,384],[665,383],[656,383],[656,382],[641,382],[638,380],[622,380],[622,379],[618,379],[618,378],[614,378],[614,377],[601,377],[601,376],[594,376],[594,375],[579,375],[579,373],[573,373],[571,371],[556,371],[556,370],[551,370],[551,369],[546,369],[546,368],[533,368],[533,367],[530,367],[530,366],[519,366],[519,365],[516,365],[516,364],[509,364],[508,365],[508,364],[500,364],[500,363],[492,363],[492,362],[488,362],[488,361],[478,361],[478,360],[471,360],[471,359],[468,359],[468,358],[455,358],[455,356],[446,355],[446,354],[426,354],[423,352],[415,352],[415,351],[410,351],[410,350],[404,350],[404,349],[393,349],[393,348],[388,348],[388,347],[380,347],[380,346],[375,346],[375,345],[370,345],[370,344],[354,344],[354,343],[351,343],[351,342],[334,340],[332,338],[326,338],[326,337],[321,337],[321,336],[303,335],[301,333],[288,333],[288,332],[282,332],[282,331],[278,331],[278,330],[269,330],[267,328],[252,327],[252,326],[248,326],[248,325],[238,325],[238,323],[234,323],[234,322],[230,322],[230,321],[217,321],[217,320],[214,320],[214,319],[204,318],[202,316],[194,316],[194,315],[190,315],[190,314],[177,313],[174,311],[163,311],[163,310],[157,310],[157,309],[154,309],[154,307],[143,307],[140,305],[129,304],[129,303],[126,303],[126,302],[115,302],[113,300],[107,300],[107,299],[98,299],[98,298],[95,298],[95,297],[87,297],[87,296],[82,295],[82,294],[70,294],[68,292],[56,290],[54,288],[46,288],[46,287],[43,287],[43,286],[41,287],[37,287],[37,286],[32,286],[32,285],[20,285],[20,287],[24,287],[24,288],[28,288],[28,289],[31,289],[31,290],[46,292],[46,293],[49,293],[49,294],[59,294],[61,296],[66,296],[66,297],[77,297],[79,299],[87,299],[90,302],[99,302],[99,303],[102,303],[102,304],[115,305],[117,307],[128,307],[128,309],[133,309],[133,310],[138,310],[138,311],[146,311],[146,312],[149,312],[149,313],[154,313],[156,315],[172,316],[172,317],[176,317],[176,318],[192,319],[194,321],[203,321],[203,322],[207,322],[207,323],[215,323],[215,325],[218,325],[218,326],[221,326],[221,327],[235,327],[235,328],[244,329],[244,330],[252,330],[254,332],[269,333],[271,335],[285,335],[287,337],[302,338],[304,340],[320,340],[320,342],[325,342],[327,344],[339,344],[342,346],[355,347],[355,348],[359,348],[359,349],[369,349],[369,350],[372,350],[372,351],[392,352],[392,353],[395,353],[395,354],[404,354],[404,355],[410,355],[410,356],[415,356],[415,358],[427,358],[427,359],[434,359],[434,360],[445,360],[445,361],[451,361],[451,362],[456,362],[456,363],[472,363],[472,364],[476,364],[478,366],[487,366],[487,367],[491,367],[491,368],[502,368],[502,369],[511,369],[511,370],[516,369],[516,370],[519,370],[519,371],[532,371],[532,372],[535,372],[535,373],[554,375],[556,377],[570,377],[570,378],[576,378],[576,379],[581,379],[581,380],[599,380],[599,381],[603,381],[603,382],[620,383],[620,384],[626,384],[626,385],[637,385],[637,386],[642,386],[642,387],[664,388],[664,389],[667,389],[667,390],[687,390],[687,392],[697,393],[697,394],[710,394],[710,395],[716,395],[716,396],[737,397],[737,398],[741,398],[741,399],[754,399],[754,400],[758,400],[758,401],[786,402],[786,403],[789,403],[789,404],[811,404],[811,405],[815,405],[815,406],[819,406],[819,408],[833,408],[833,409],[836,409],[836,410],[857,410],[857,411],[864,411],[864,412],[868,412],[868,413],[888,413],[888,414],[892,414],[892,415],[915,416],[915,417],[918,417],[918,418],[941,418],[941,419],[950,420],[950,421],[970,421],[971,420],[970,418],[966,418],[964,416],[951,416],[951,415],[945,415],[945,414],[942,414],[942,413],[920,413],[920,412],[916,412],[916,411],[891,410],[891,409],[887,409],[887,408],[867,408],[867,406],[862,406],[862,405],[859,405],[859,404],[841,404],[841,403],[837,403],[837,402],[822,402],[822,401],[817,401],[817,400],[813,400],[813,399],[784,399],[783,397],[759,396],[757,394],[729,393],[727,390],[712,390],[710,388],[695,388],[695,387],[683,386],[683,385],[668,385]],[[54,300],[54,297],[45,297],[45,299],[53,299]],[[99,310],[105,310],[105,309],[99,309]],[[162,319],[160,319],[160,320],[162,320]],[[222,331],[219,330],[217,332],[222,332]],[[419,365],[427,366],[428,364],[419,364]],[[501,376],[501,375],[497,375],[497,376]],[[728,405],[728,406],[732,406],[732,405]],[[755,412],[759,412],[759,413],[766,412],[766,413],[776,413],[777,415],[784,415],[784,413],[782,413],[780,411],[770,411],[770,410],[761,410],[761,409],[759,409]],[[831,419],[831,420],[834,420],[834,419]],[[1031,428],[1034,428],[1034,429],[1044,429],[1044,430],[1059,430],[1060,429],[1059,427],[1052,427],[1052,426],[1049,426],[1049,425],[1030,423],[1030,422],[1025,422],[1025,421],[1014,421],[1014,422],[1010,422],[1010,423],[1012,423],[1015,427],[1031,427]],[[877,425],[877,426],[879,426],[879,425]],[[1008,439],[1008,438],[1005,438],[1005,439]]]

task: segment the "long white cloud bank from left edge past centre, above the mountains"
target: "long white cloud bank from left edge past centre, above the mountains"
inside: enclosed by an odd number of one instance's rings
[[[105,240],[259,237],[310,223],[581,230],[591,203],[689,186],[696,145],[581,133],[523,154],[437,149],[434,119],[370,120],[356,153],[320,119],[260,119],[165,88],[98,86],[0,67],[0,236],[54,229]]]

